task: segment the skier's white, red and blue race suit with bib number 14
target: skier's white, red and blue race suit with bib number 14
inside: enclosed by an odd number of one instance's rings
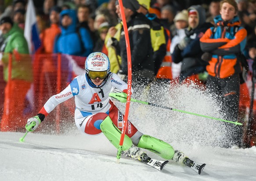
[[[62,92],[51,96],[39,113],[47,116],[58,104],[75,96],[76,110],[74,118],[80,131],[91,135],[100,134],[101,130],[97,122],[104,120],[106,116],[110,116],[116,127],[121,130],[124,115],[110,100],[109,93],[112,87],[127,93],[128,85],[112,72],[102,84],[104,84],[102,87],[96,87],[86,74],[77,76]],[[129,121],[126,134],[132,141],[142,136],[142,133]]]

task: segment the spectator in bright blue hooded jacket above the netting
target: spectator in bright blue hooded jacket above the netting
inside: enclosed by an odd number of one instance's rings
[[[90,32],[85,28],[76,28],[76,15],[74,10],[61,11],[61,34],[55,39],[54,53],[86,57],[92,52]]]

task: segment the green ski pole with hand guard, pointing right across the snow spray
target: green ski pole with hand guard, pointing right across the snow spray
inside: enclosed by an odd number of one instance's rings
[[[120,101],[122,103],[124,103],[124,100],[126,101],[126,94],[125,93],[110,93],[109,95],[110,95],[110,97],[116,98],[118,101]],[[219,121],[223,121],[223,122],[227,122],[227,123],[233,123],[235,125],[242,125],[241,123],[238,123],[237,121],[233,122],[233,121],[228,121],[228,120],[225,120],[225,119],[219,119],[219,118],[215,118],[215,117],[205,116],[205,115],[201,115],[201,114],[197,114],[197,113],[193,113],[193,112],[187,112],[187,111],[183,111],[183,110],[179,110],[179,109],[168,108],[168,107],[165,107],[165,106],[162,106],[162,105],[156,105],[156,104],[153,104],[153,103],[150,103],[150,102],[139,101],[139,100],[136,100],[136,99],[133,99],[133,98],[131,98],[131,101],[132,102],[139,102],[141,104],[156,106],[156,107],[159,107],[159,108],[170,109],[172,111],[184,112],[184,113],[192,114],[192,115],[195,115],[195,116],[201,116],[201,117],[205,117],[205,118],[215,119],[215,120],[219,120]]]

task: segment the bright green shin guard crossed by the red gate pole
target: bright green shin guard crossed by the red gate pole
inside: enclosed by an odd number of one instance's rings
[[[118,148],[120,137],[121,137],[121,131],[114,125],[112,120],[110,119],[110,116],[107,116],[106,119],[102,121],[100,124],[100,129],[102,130],[102,133],[108,138],[108,140],[116,147]],[[129,138],[126,134],[124,135],[124,143],[122,150],[128,150],[132,146],[132,140]]]

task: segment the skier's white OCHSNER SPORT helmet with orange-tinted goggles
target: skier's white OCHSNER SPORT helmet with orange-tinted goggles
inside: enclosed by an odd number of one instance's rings
[[[102,52],[94,52],[88,55],[85,60],[85,72],[91,79],[103,80],[110,72],[110,60]]]

